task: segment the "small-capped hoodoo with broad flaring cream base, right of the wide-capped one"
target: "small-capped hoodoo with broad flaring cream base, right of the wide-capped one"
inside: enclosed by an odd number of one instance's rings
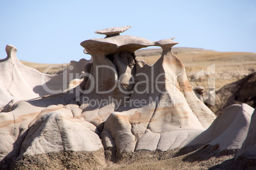
[[[171,52],[175,44],[172,39],[157,41],[163,52],[153,66],[136,59],[138,76],[134,76],[131,96],[104,123],[118,154],[184,146],[214,120],[190,87],[180,59]]]

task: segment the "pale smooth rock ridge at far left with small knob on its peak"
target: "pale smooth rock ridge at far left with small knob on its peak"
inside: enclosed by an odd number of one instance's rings
[[[78,78],[89,60],[71,61],[62,74],[39,73],[36,69],[24,66],[17,59],[17,48],[6,45],[6,59],[0,60],[0,111],[8,111],[17,101],[39,96],[59,94],[69,87],[70,81]],[[46,68],[46,71],[51,67]]]

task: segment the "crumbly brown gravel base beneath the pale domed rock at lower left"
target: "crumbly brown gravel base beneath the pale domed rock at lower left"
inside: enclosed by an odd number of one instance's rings
[[[95,152],[57,152],[25,155],[15,169],[104,169],[104,150]]]

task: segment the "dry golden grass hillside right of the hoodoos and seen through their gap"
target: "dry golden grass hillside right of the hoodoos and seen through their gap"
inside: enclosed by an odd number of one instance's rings
[[[158,50],[158,55],[150,55],[150,51],[151,49],[148,50],[148,54],[145,54],[146,50],[144,53],[137,52],[136,54],[139,59],[146,60],[148,64],[154,64],[160,58],[161,50]],[[156,51],[154,50],[153,54],[156,54]],[[188,80],[193,87],[203,86],[207,89],[212,85],[208,83],[208,80],[213,78],[215,88],[218,90],[225,84],[256,71],[256,53],[216,52],[201,48],[174,48],[173,53],[183,62]],[[208,74],[209,66],[215,67],[215,74]],[[203,74],[197,74],[200,71]]]

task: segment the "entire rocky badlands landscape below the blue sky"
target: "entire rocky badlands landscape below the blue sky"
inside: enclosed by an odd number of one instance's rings
[[[96,31],[81,43],[93,60],[64,69],[6,46],[0,169],[256,168],[256,54],[120,36],[130,27]],[[162,50],[135,52],[148,46]]]

